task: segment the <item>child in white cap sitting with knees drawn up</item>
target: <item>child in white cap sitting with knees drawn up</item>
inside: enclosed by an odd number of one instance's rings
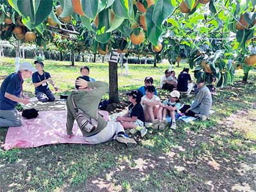
[[[177,90],[169,94],[169,98],[163,102],[163,124],[167,124],[167,116],[172,118],[171,129],[176,129],[176,120],[179,118],[180,92]]]

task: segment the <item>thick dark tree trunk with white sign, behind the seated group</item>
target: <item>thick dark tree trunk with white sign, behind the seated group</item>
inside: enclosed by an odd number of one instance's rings
[[[117,76],[117,61],[118,52],[112,50],[109,56],[109,102],[117,103],[118,98],[118,76]]]

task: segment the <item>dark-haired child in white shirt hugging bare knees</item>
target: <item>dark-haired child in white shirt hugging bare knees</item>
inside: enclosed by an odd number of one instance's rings
[[[155,119],[157,118],[161,101],[159,97],[154,95],[155,90],[154,86],[147,86],[146,95],[141,98],[141,104],[144,110],[145,121],[153,123],[153,128],[158,129]]]

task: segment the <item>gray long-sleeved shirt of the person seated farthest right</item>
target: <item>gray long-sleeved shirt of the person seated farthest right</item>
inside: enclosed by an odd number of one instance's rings
[[[201,115],[209,115],[212,106],[212,96],[209,88],[203,86],[196,93],[195,102],[191,105],[190,110]]]

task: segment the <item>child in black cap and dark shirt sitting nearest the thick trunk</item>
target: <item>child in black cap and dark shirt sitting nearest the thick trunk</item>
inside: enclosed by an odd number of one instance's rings
[[[135,134],[140,131],[141,137],[147,133],[146,127],[144,127],[144,113],[140,104],[142,93],[138,90],[134,90],[129,93],[129,101],[131,104],[128,107],[127,113],[123,116],[117,116],[116,121],[120,122],[124,129],[131,129],[131,134]]]

